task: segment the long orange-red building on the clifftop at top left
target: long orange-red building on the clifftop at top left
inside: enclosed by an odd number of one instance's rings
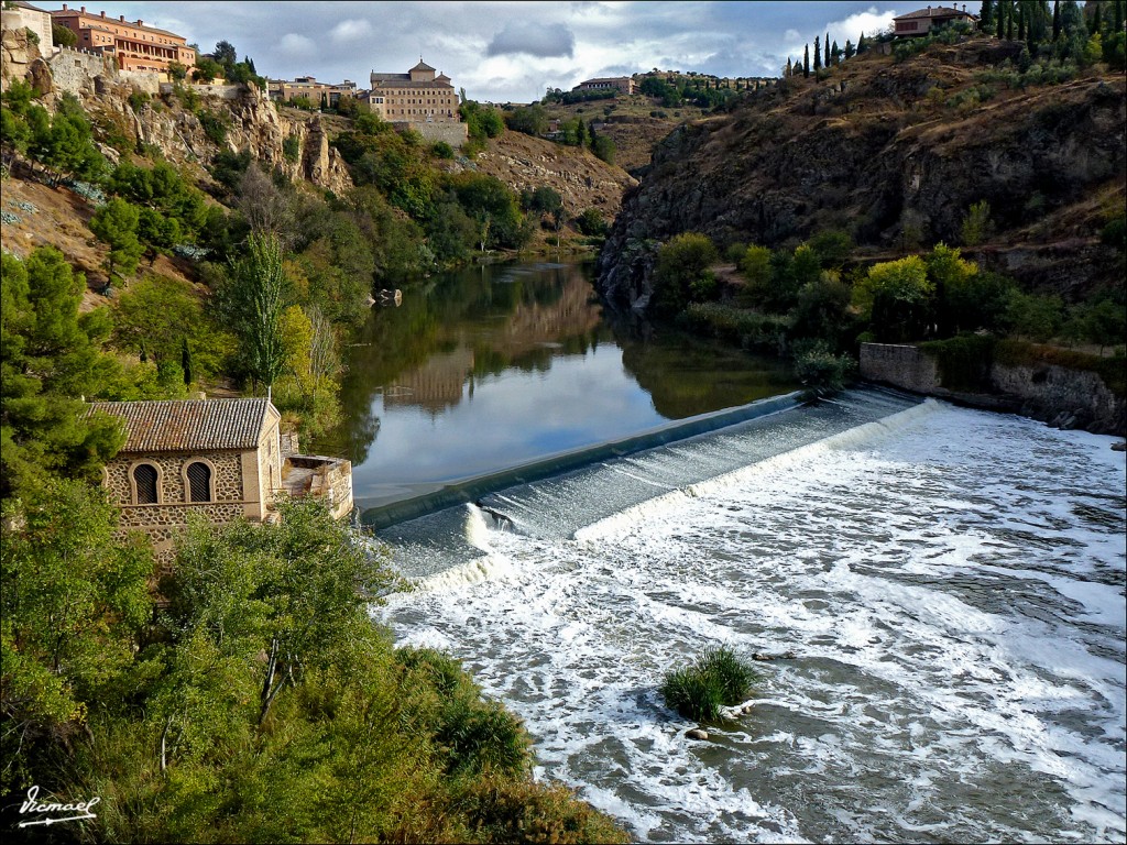
[[[168,73],[172,62],[179,62],[189,71],[196,64],[196,51],[185,38],[145,26],[140,19],[128,21],[124,15],[114,19],[106,12],[92,15],[85,6],[70,9],[66,3],[61,10],[51,12],[51,19],[78,36],[76,47],[112,56],[118,70]]]

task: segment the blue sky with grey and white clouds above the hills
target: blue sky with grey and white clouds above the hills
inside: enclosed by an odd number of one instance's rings
[[[930,0],[935,2],[935,0]],[[211,52],[229,41],[274,79],[405,73],[421,57],[470,99],[530,103],[548,88],[658,68],[718,77],[779,75],[829,32],[844,47],[925,2],[85,2],[183,35]],[[938,5],[938,3],[935,3]],[[977,12],[978,2],[968,5]],[[61,5],[41,5],[57,9]]]

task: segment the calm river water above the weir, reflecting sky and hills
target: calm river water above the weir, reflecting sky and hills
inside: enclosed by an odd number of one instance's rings
[[[795,388],[779,362],[611,324],[580,264],[443,274],[346,352],[344,421],[313,447],[352,460],[362,505]]]

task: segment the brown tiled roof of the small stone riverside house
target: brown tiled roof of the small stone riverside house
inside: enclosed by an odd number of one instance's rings
[[[268,415],[267,399],[194,399],[171,402],[91,402],[125,420],[122,452],[196,452],[257,448]]]

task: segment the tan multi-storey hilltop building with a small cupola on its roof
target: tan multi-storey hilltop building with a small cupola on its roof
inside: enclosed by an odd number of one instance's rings
[[[415,130],[428,141],[460,146],[467,139],[450,77],[421,60],[407,73],[372,71],[366,103],[373,114],[402,128]]]

